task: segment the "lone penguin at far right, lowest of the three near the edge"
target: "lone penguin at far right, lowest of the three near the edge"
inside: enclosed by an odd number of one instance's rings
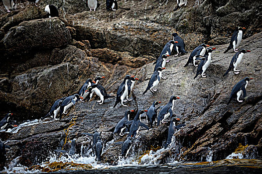
[[[243,100],[239,100],[240,96],[243,94],[243,98],[246,97],[246,93],[247,93],[247,86],[250,80],[253,80],[253,78],[244,78],[243,80],[239,81],[232,89],[230,97],[229,97],[229,101],[227,104],[230,103],[230,101],[233,98],[237,97],[237,100],[239,102],[243,102]]]

